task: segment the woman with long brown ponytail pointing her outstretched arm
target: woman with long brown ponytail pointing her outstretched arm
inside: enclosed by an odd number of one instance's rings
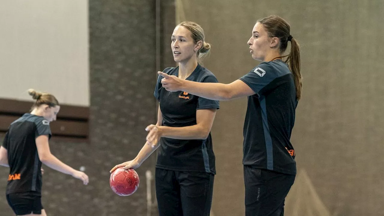
[[[291,50],[284,55],[289,42]],[[296,176],[290,138],[301,98],[300,48],[290,25],[278,16],[258,20],[248,45],[252,58],[262,63],[230,84],[197,83],[158,73],[168,91],[211,100],[248,97],[243,143],[245,215],[282,216]]]

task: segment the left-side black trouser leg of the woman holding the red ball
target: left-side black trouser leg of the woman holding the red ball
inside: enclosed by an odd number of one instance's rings
[[[156,198],[160,216],[182,216],[180,186],[175,171],[156,168]]]

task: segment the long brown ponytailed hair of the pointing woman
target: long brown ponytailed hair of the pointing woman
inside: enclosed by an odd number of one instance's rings
[[[296,98],[300,100],[301,98],[301,88],[303,87],[302,76],[300,73],[300,45],[291,36],[291,27],[290,25],[281,17],[272,15],[269,17],[262,18],[257,20],[258,23],[263,24],[263,27],[268,32],[269,37],[277,37],[280,40],[280,53],[284,53],[287,46],[288,41],[291,41],[291,50],[285,62],[288,64],[293,77],[295,78],[295,86],[296,86]]]

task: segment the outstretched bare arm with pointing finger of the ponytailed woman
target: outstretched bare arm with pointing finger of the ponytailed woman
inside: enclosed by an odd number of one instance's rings
[[[182,80],[177,78],[177,76],[170,76],[161,71],[158,74],[164,77],[161,83],[167,91],[186,91],[192,95],[210,100],[231,100],[255,94],[252,88],[241,80],[236,80],[229,84],[200,83]]]

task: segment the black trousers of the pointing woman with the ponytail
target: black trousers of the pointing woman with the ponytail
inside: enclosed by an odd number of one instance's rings
[[[295,175],[244,166],[245,216],[283,216]]]

